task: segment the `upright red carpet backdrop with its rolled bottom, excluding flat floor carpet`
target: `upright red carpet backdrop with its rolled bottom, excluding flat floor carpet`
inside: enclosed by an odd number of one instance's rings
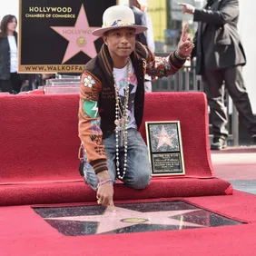
[[[78,172],[78,101],[76,94],[1,96],[0,205],[94,201]],[[116,199],[231,194],[231,184],[213,176],[204,94],[146,94],[144,112],[143,121],[180,120],[186,175],[157,179],[144,192],[117,188]]]

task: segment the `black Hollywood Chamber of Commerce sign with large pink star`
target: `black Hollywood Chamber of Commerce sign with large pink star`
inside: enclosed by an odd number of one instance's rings
[[[81,74],[100,51],[92,34],[116,0],[20,0],[19,65],[25,74]]]

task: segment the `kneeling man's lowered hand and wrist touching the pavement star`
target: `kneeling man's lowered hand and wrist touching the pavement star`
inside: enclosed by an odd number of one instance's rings
[[[97,174],[99,182],[110,179],[108,171],[99,172]],[[97,199],[104,207],[113,206],[113,182],[106,182],[99,186],[97,190]]]

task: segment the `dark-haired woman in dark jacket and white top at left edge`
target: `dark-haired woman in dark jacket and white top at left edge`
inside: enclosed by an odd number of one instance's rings
[[[0,92],[17,94],[23,84],[27,84],[25,74],[17,74],[17,19],[5,15],[0,24]]]

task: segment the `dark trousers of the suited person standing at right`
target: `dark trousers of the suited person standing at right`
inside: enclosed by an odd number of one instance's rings
[[[212,133],[215,138],[226,138],[229,133],[227,109],[224,104],[225,90],[230,94],[248,132],[256,135],[256,118],[251,111],[251,103],[243,83],[241,69],[241,65],[236,65],[221,70],[205,70],[202,74],[211,110]]]

